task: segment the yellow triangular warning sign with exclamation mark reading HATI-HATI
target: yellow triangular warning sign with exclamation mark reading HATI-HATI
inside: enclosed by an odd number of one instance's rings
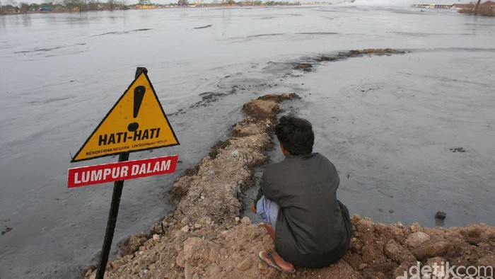
[[[71,161],[177,144],[155,89],[141,72]]]

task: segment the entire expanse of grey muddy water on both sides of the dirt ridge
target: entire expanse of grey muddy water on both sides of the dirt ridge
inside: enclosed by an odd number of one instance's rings
[[[163,193],[225,139],[245,101],[286,91],[304,97],[289,110],[315,123],[353,213],[433,226],[443,210],[447,226],[495,224],[494,27],[380,6],[1,16],[0,277],[76,278],[96,256],[112,186],[68,190],[66,169],[86,165],[69,164],[71,154],[141,66],[181,145],[131,159],[181,162],[173,175],[125,183],[115,244],[171,209]],[[412,52],[291,70],[368,47]]]

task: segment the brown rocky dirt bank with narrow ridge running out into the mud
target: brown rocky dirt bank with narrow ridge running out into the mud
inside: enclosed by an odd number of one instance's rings
[[[252,169],[267,163],[279,102],[291,98],[298,96],[246,103],[245,119],[232,136],[174,184],[177,209],[148,234],[130,237],[126,254],[107,264],[105,278],[396,278],[417,261],[495,268],[495,227],[405,227],[357,215],[351,218],[351,249],[341,261],[317,270],[296,268],[295,275],[268,268],[257,254],[273,250],[273,241],[263,227],[238,217],[239,194],[252,183]],[[95,268],[84,277],[95,278]]]

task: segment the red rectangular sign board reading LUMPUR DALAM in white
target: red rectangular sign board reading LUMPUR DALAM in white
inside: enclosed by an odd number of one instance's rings
[[[69,169],[67,188],[173,173],[178,155]]]

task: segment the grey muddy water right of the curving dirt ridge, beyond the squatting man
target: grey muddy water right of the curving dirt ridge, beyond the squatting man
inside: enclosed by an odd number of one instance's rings
[[[305,95],[298,115],[337,162],[339,195],[354,212],[428,227],[495,224],[495,96],[485,62],[495,63],[494,52],[416,50],[328,63],[304,85],[290,80]],[[470,63],[485,70],[466,71]]]

